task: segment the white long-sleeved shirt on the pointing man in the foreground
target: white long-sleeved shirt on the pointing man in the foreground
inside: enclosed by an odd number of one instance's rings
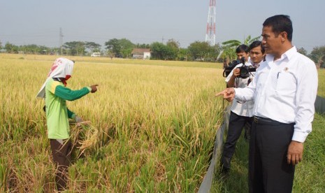
[[[273,61],[266,56],[254,80],[244,89],[235,89],[235,98],[254,100],[254,115],[283,123],[294,122],[293,141],[304,142],[312,131],[318,76],[315,63],[297,52],[287,50]]]

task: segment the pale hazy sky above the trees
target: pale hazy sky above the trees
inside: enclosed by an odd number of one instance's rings
[[[2,45],[60,46],[92,41],[103,46],[113,38],[132,43],[166,43],[187,48],[205,41],[210,0],[0,0]],[[261,35],[266,18],[291,17],[292,43],[310,53],[325,45],[324,0],[216,0],[216,43]]]

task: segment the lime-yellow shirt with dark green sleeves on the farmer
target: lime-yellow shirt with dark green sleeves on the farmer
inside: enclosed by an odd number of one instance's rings
[[[66,100],[74,101],[88,94],[92,89],[83,87],[71,90],[64,84],[50,79],[45,86],[46,122],[48,124],[48,138],[66,139],[70,136],[68,118],[75,114],[66,107]]]

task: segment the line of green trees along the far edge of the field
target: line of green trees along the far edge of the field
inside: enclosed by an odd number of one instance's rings
[[[151,59],[180,60],[180,61],[204,61],[204,62],[224,62],[229,63],[236,59],[235,49],[240,44],[250,45],[259,37],[251,38],[247,36],[245,40],[229,40],[221,44],[209,45],[204,41],[195,41],[187,48],[180,48],[180,43],[174,39],[169,39],[166,43],[154,42],[151,44],[132,43],[127,38],[113,38],[105,42],[104,50],[99,43],[87,41],[71,41],[62,45],[62,48],[49,48],[43,45],[13,45],[6,43],[0,50],[8,53],[24,53],[38,55],[73,55],[89,56],[92,52],[101,52],[106,57],[131,58],[133,48],[149,48]],[[312,59],[317,66],[325,67],[325,45],[313,48],[310,54],[304,48],[298,48],[298,52]]]

